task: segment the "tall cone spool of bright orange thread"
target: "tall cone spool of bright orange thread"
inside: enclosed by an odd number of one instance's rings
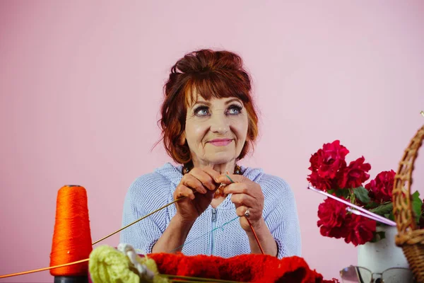
[[[50,266],[86,259],[92,250],[86,189],[79,185],[65,185],[57,192]],[[88,262],[54,268],[50,274],[87,276]]]

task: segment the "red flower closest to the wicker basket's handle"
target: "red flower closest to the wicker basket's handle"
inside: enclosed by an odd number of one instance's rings
[[[374,180],[365,185],[370,192],[370,198],[376,202],[391,202],[391,191],[393,190],[394,176],[396,173],[391,171],[382,171]]]

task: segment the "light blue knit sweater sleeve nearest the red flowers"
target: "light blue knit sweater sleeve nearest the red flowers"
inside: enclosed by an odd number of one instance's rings
[[[264,175],[261,179],[266,203],[265,223],[278,247],[278,258],[301,255],[302,244],[295,196],[285,180]]]

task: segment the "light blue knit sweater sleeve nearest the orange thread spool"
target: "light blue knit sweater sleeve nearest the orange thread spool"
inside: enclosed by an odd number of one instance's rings
[[[137,178],[126,192],[122,227],[165,205],[169,187],[170,183],[158,173]],[[167,209],[162,209],[122,230],[119,242],[128,243],[141,253],[151,253],[166,229],[168,218]]]

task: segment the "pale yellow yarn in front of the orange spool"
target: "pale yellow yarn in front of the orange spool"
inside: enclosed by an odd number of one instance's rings
[[[88,269],[93,283],[166,283],[166,278],[158,273],[158,267],[151,258],[137,257],[136,260],[146,265],[155,276],[153,281],[141,279],[128,257],[110,246],[99,246],[90,253]],[[134,271],[133,271],[134,270]]]

